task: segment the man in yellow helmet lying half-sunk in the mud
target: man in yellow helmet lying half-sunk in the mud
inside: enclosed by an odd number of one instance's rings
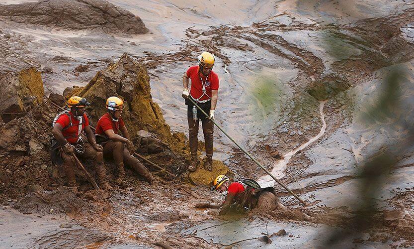
[[[195,206],[196,208],[219,208],[220,215],[225,215],[229,211],[240,212],[255,208],[262,211],[272,211],[276,208],[287,210],[280,203],[273,187],[260,188],[260,185],[254,180],[231,182],[227,176],[219,175],[210,190],[216,190],[226,195],[224,203],[222,205],[200,203]]]

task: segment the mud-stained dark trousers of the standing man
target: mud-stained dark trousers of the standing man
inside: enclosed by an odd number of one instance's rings
[[[207,110],[208,109],[208,110]],[[203,108],[204,110],[204,108]],[[207,111],[206,111],[207,110]],[[206,113],[209,112],[210,107],[206,108],[204,110]],[[204,114],[202,114],[198,110],[198,120],[195,121],[192,116],[192,106],[188,105],[187,109],[187,120],[188,120],[188,128],[189,128],[189,142],[190,142],[190,152],[191,157],[197,157],[197,147],[198,147],[198,126],[199,121],[201,120],[201,124],[203,126],[203,133],[204,133],[204,143],[206,146],[206,156],[212,157],[213,156],[213,130],[214,130],[214,124],[211,120],[209,120],[207,117],[205,117]]]

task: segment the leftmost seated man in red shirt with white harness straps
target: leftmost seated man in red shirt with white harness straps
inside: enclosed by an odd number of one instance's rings
[[[95,171],[102,189],[110,189],[106,180],[105,165],[103,164],[102,146],[96,144],[93,131],[90,129],[89,120],[84,113],[84,108],[89,105],[85,99],[73,96],[68,101],[69,110],[66,110],[53,121],[51,156],[56,165],[63,165],[66,172],[69,187],[76,187],[74,166],[76,165],[73,154],[83,159],[94,160]],[[85,132],[89,143],[82,139]]]

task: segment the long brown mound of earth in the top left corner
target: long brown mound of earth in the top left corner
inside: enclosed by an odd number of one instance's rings
[[[0,5],[0,18],[53,28],[147,33],[140,17],[105,0],[40,0]]]

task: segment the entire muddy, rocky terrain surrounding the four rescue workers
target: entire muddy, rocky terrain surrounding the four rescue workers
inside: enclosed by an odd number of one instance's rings
[[[414,246],[414,1],[3,0],[0,248]],[[182,75],[209,51],[220,79],[213,169],[189,172]],[[125,102],[149,184],[105,159],[110,190],[52,163],[71,96]],[[143,134],[153,134],[157,149]],[[153,136],[153,137],[154,137]],[[84,161],[97,180],[93,162]],[[220,215],[219,174],[273,186],[286,209]],[[208,204],[208,205],[207,205]]]

